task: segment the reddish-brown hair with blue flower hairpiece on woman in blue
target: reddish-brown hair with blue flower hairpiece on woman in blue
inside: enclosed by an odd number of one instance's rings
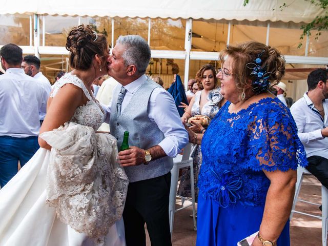
[[[232,59],[234,76],[239,95],[248,88],[260,94],[279,83],[285,74],[285,60],[280,52],[259,42],[249,41],[228,46],[219,55],[221,64]]]

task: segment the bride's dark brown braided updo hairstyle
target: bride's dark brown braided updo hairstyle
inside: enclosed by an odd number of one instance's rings
[[[70,66],[74,69],[87,70],[97,54],[108,54],[109,48],[104,34],[96,33],[89,25],[73,27],[66,40],[66,49],[70,51]]]

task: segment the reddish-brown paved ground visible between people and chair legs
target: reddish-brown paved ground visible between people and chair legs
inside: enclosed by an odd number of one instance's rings
[[[321,203],[321,186],[313,176],[303,179],[300,198]],[[299,202],[296,210],[320,215],[317,206]],[[173,246],[192,246],[196,242],[196,232],[193,230],[193,219],[189,217],[192,209],[187,208],[175,214],[172,236]],[[151,245],[147,238],[147,245]],[[320,246],[321,245],[321,220],[294,214],[291,221],[291,246]],[[155,245],[156,246],[156,245]],[[207,246],[207,245],[204,245]],[[227,245],[230,246],[230,245]],[[234,245],[233,245],[234,246]],[[284,246],[284,245],[279,245]]]

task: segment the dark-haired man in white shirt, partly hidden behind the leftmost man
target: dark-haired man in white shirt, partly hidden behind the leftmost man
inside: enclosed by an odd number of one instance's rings
[[[48,100],[49,94],[51,92],[51,84],[48,78],[45,75],[43,75],[42,72],[40,72],[40,65],[41,65],[41,61],[39,58],[37,58],[34,55],[27,55],[23,59],[22,68],[24,69],[27,75],[37,79],[42,84],[42,86],[48,92],[48,96],[47,96],[47,100]],[[43,107],[39,112],[39,119],[41,125],[46,117],[46,113],[47,113],[47,105],[46,107]]]

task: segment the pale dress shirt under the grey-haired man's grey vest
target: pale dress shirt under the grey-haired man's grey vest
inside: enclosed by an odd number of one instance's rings
[[[127,107],[133,94],[147,79],[146,75],[140,76],[124,88],[127,89],[125,97],[122,101],[121,111]],[[118,84],[117,86],[121,86]],[[111,104],[103,106],[107,112],[106,122],[109,123]],[[153,90],[148,105],[148,117],[156,122],[159,130],[164,134],[165,138],[158,144],[163,151],[170,157],[175,157],[181,152],[189,141],[188,132],[183,127],[175,101],[172,95],[161,87]]]

